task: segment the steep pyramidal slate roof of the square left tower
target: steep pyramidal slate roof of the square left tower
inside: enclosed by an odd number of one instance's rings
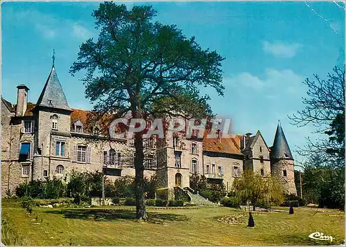
[[[62,85],[57,79],[57,73],[54,66],[52,66],[51,73],[49,73],[46,84],[39,100],[37,100],[37,107],[52,107],[57,109],[71,110],[67,103],[66,96],[62,90]]]

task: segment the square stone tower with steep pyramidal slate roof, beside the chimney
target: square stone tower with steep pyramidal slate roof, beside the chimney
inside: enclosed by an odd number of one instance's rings
[[[51,156],[55,155],[57,142],[69,143],[71,132],[71,113],[73,112],[66,100],[62,85],[53,65],[48,75],[41,95],[35,106],[37,116],[37,131],[35,131],[34,152],[37,154],[33,163],[33,179],[42,179],[44,176],[51,177],[54,174]],[[65,148],[64,157],[68,157],[68,149]],[[62,161],[60,161],[60,164]],[[46,175],[44,175],[46,174]]]

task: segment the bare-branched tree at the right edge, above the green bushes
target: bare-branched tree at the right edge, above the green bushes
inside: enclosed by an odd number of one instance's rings
[[[327,134],[316,142],[307,139],[307,145],[298,152],[303,156],[320,154],[323,162],[334,167],[345,165],[345,69],[335,66],[333,73],[323,80],[313,75],[307,78],[307,97],[302,99],[304,109],[289,116],[293,125],[313,125],[316,132]]]

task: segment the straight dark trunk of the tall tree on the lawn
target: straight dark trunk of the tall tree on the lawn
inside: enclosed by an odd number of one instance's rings
[[[147,220],[147,210],[145,209],[144,196],[144,154],[143,154],[143,133],[135,133],[134,139],[136,147],[135,169],[136,169],[136,218]]]

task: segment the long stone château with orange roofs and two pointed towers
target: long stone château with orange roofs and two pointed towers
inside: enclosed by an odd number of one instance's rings
[[[55,67],[37,103],[28,102],[28,87],[17,86],[17,104],[1,97],[1,192],[11,195],[20,183],[66,178],[72,170],[103,171],[110,179],[135,175],[133,138],[109,138],[96,123],[89,126],[89,111],[72,109]],[[279,176],[286,192],[296,194],[294,164],[281,126],[271,149],[255,136],[186,138],[179,133],[164,140],[145,140],[145,176],[157,175],[169,197],[174,187],[190,187],[192,174],[224,183],[228,191],[242,170]],[[272,150],[270,152],[270,150]]]

